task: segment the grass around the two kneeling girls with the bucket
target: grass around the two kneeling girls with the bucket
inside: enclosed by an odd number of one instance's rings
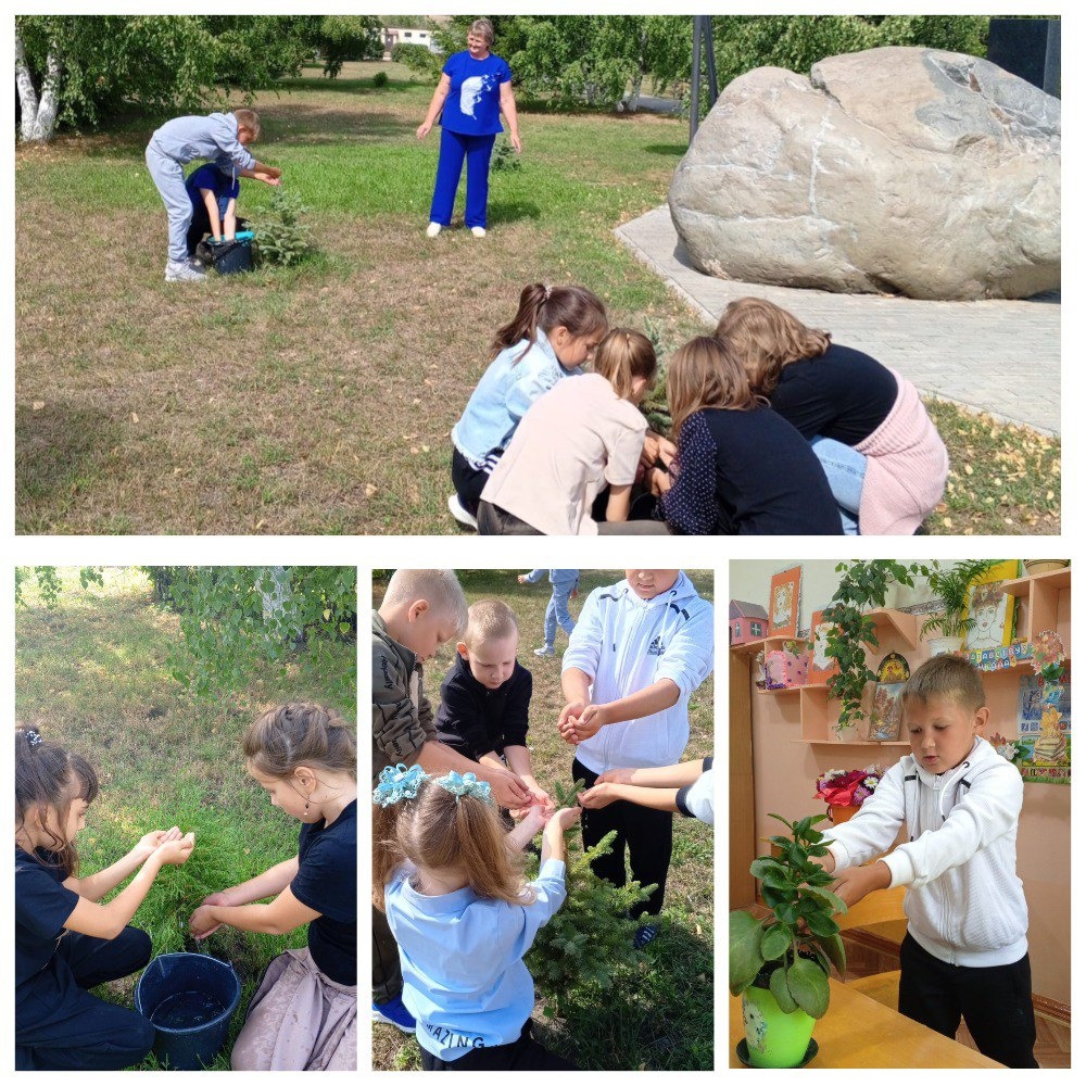
[[[243,690],[206,702],[189,697],[171,677],[180,637],[175,615],[155,605],[147,577],[104,570],[104,585],[79,588],[64,571],[58,605],[41,605],[30,588],[15,616],[16,720],[94,766],[98,799],[78,838],[83,871],[108,867],[151,830],[192,830],[197,847],[184,867],[164,868],[132,921],[151,936],[155,955],[197,949],[188,917],[204,896],[225,889],[296,854],[300,823],[273,807],[245,772],[241,736],[262,711],[287,700],[334,706],[354,719],[355,645],[302,652],[287,666],[265,668]],[[319,660],[319,662],[318,662]],[[229,1051],[265,967],[288,947],[305,946],[305,929],[286,936],[222,929],[202,949],[230,961],[242,982]],[[132,1005],[137,977],[103,985],[97,995]],[[153,1058],[143,1064],[157,1066]]]

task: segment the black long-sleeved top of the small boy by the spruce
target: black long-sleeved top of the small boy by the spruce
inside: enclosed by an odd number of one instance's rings
[[[528,746],[532,673],[519,664],[497,690],[484,686],[459,653],[441,682],[438,738],[472,761],[491,750]]]

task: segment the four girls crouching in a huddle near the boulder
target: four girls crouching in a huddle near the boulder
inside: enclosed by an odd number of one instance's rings
[[[763,299],[670,355],[670,437],[640,409],[653,343],[583,287],[526,287],[491,349],[452,431],[449,509],[480,534],[911,534],[943,497],[917,389]]]

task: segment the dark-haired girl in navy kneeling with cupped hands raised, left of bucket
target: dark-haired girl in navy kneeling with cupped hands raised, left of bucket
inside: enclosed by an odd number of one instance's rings
[[[75,838],[97,795],[84,758],[37,729],[15,729],[16,1071],[119,1071],[154,1041],[142,1014],[87,989],[151,960],[151,939],[128,923],[162,866],[189,858],[193,835],[152,831],[115,863],[84,874]]]

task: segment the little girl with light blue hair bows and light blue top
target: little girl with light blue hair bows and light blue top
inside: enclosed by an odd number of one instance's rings
[[[403,1001],[427,1071],[573,1071],[531,1034],[522,959],[566,898],[563,837],[579,808],[539,807],[506,833],[490,785],[389,766],[374,791],[374,900],[400,946]],[[523,847],[543,831],[539,877]]]

